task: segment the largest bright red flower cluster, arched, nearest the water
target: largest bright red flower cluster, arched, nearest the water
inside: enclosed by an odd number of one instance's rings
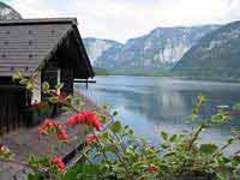
[[[95,128],[98,131],[101,130],[101,122],[94,112],[80,112],[71,116],[66,121],[66,125],[70,127],[74,127],[77,124],[86,124],[90,127]]]

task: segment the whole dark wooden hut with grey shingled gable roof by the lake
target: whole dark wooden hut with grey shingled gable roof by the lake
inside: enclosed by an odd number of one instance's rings
[[[24,87],[12,83],[12,75],[21,71],[31,76],[36,70],[40,73],[29,99]],[[42,100],[43,81],[62,82],[69,94],[75,78],[93,76],[75,18],[0,21],[0,130],[17,126],[23,109]]]

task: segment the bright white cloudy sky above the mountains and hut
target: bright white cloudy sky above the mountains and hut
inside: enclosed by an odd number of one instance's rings
[[[83,37],[125,42],[159,26],[240,20],[240,0],[3,0],[24,18],[77,17]]]

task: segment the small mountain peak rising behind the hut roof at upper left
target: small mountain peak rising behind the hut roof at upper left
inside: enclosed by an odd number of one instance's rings
[[[0,2],[0,21],[22,19],[21,15],[10,6]]]

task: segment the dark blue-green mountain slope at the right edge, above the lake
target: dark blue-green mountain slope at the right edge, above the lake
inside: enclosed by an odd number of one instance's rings
[[[240,77],[240,21],[227,24],[198,41],[173,72],[192,78],[221,80]]]

